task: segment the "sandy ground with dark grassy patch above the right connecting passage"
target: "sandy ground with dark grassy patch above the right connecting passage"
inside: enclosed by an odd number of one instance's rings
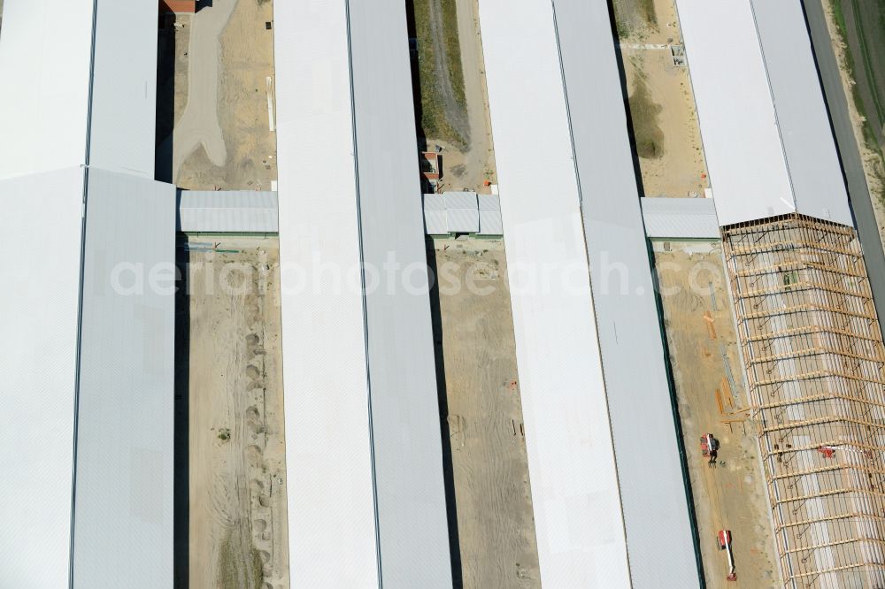
[[[674,65],[670,50],[682,43],[673,0],[654,0],[653,23],[649,4],[615,2],[643,195],[703,196],[710,182],[689,71]]]

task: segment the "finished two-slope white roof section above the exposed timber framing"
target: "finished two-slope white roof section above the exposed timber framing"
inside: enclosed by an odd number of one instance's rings
[[[852,225],[800,2],[676,4],[720,223]]]

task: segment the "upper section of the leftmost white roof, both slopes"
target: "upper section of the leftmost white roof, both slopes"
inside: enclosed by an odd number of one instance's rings
[[[153,178],[157,3],[98,0],[94,68],[92,42],[93,0],[6,1],[0,178],[84,164],[88,144],[90,164]]]

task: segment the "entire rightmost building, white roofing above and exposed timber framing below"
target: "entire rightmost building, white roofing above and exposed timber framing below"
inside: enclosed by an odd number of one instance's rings
[[[802,4],[677,0],[788,587],[885,584],[885,348]]]

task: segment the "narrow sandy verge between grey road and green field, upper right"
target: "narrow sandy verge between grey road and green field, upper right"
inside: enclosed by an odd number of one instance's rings
[[[870,188],[870,195],[872,196],[871,200],[873,202],[873,212],[876,216],[876,226],[879,227],[879,237],[882,246],[885,247],[885,203],[881,200],[881,195],[885,194],[885,183],[882,181],[882,179],[885,178],[885,166],[883,166],[881,153],[871,149],[864,140],[864,118],[858,112],[857,104],[855,104],[854,100],[851,98],[851,88],[854,86],[855,80],[851,79],[848,69],[845,67],[846,51],[848,48],[839,40],[840,37],[833,19],[833,10],[830,5],[830,0],[821,0],[821,2],[824,6],[824,12],[827,14],[827,28],[830,32],[830,38],[833,40],[833,49],[835,50],[836,59],[838,59],[842,70],[843,88],[845,88],[845,94],[848,96],[847,102],[851,124],[854,126],[854,136],[858,141],[860,158],[864,164],[866,184]],[[844,8],[850,10],[850,5],[846,3],[844,4]],[[856,67],[859,71],[862,71],[862,65],[858,63]]]

